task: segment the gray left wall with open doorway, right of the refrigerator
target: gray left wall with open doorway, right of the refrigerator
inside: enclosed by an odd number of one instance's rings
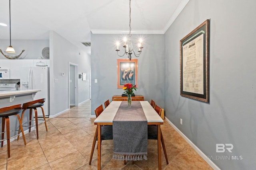
[[[50,69],[50,117],[69,109],[69,62],[78,65],[78,74],[84,72],[89,75],[90,55],[86,49],[77,47],[58,33],[50,31],[50,66],[53,66]],[[78,79],[78,104],[86,100],[89,100],[89,82]]]

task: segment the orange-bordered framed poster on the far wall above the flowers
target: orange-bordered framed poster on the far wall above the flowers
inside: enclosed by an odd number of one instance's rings
[[[127,83],[138,88],[138,59],[117,59],[117,88]]]

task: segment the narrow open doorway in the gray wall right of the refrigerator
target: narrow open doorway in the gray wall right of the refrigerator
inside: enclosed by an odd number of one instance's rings
[[[68,76],[68,93],[69,93],[69,107],[78,106],[78,75],[77,64],[69,63],[69,76]]]

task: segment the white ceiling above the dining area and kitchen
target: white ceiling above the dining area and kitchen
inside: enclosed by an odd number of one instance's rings
[[[131,0],[133,33],[164,33],[189,0]],[[0,0],[0,39],[10,39],[9,0]],[[49,39],[53,30],[74,44],[93,33],[129,29],[129,0],[11,0],[12,39]]]

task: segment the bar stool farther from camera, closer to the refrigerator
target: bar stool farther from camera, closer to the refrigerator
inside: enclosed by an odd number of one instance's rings
[[[37,117],[37,107],[40,107],[42,109],[42,113],[43,113],[43,121],[44,121],[44,125],[45,125],[45,129],[46,131],[48,131],[47,129],[47,125],[46,125],[46,119],[45,119],[45,116],[44,116],[44,109],[42,106],[44,106],[44,102],[45,102],[45,98],[44,99],[38,99],[38,100],[34,100],[34,101],[31,101],[31,102],[27,102],[27,103],[24,103],[22,104],[22,115],[21,115],[21,121],[23,120],[23,116],[24,116],[24,112],[26,109],[29,109],[29,132],[31,130],[31,126],[36,126],[36,138],[38,139],[38,120],[42,120],[42,119],[38,119]],[[36,121],[36,125],[31,125],[31,122],[33,121],[32,120],[32,109],[34,109],[35,111],[35,121]],[[24,122],[24,123],[27,123],[27,122]],[[24,124],[22,123],[22,124]],[[18,136],[18,140],[19,140],[19,136]]]

